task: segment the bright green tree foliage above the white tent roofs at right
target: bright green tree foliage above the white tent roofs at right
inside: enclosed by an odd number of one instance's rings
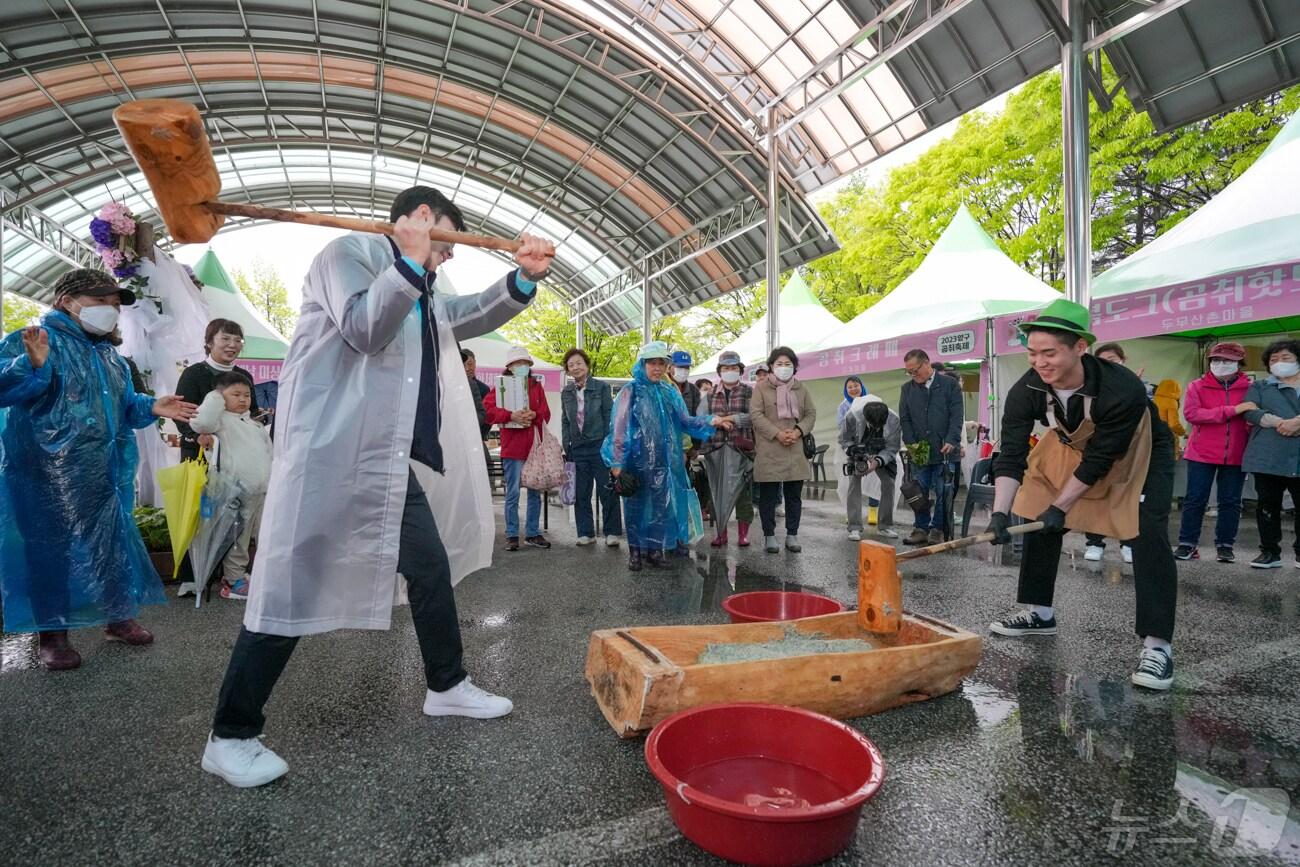
[[[1108,69],[1108,88],[1117,83]],[[1091,107],[1093,268],[1102,270],[1176,225],[1251,166],[1300,108],[1300,88],[1157,134],[1121,92]],[[822,302],[850,318],[926,257],[965,203],[1002,250],[1060,287],[1065,237],[1061,77],[1044,73],[996,114],[974,112],[946,140],[885,181],[849,183],[822,207],[840,252],[812,263]]]

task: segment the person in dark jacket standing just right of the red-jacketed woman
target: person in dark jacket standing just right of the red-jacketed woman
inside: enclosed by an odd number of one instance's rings
[[[573,381],[560,391],[560,442],[564,459],[573,463],[577,473],[573,491],[573,523],[577,525],[577,543],[595,543],[595,523],[592,516],[592,486],[595,486],[604,521],[604,543],[619,547],[623,534],[623,515],[619,498],[608,487],[610,468],[601,460],[601,443],[610,433],[610,412],[614,396],[607,382],[592,376],[592,359],[582,350],[564,354],[564,370]]]

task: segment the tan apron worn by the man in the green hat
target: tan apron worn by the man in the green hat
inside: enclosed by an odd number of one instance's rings
[[[1083,461],[1083,450],[1097,425],[1092,421],[1092,398],[1083,396],[1083,421],[1067,432],[1057,419],[1056,404],[1048,398],[1048,430],[1030,452],[1024,482],[1015,495],[1013,510],[1026,519],[1041,515]],[[1082,533],[1096,533],[1113,539],[1138,537],[1138,504],[1147,484],[1150,465],[1150,413],[1141,413],[1128,451],[1114,463],[1110,472],[1080,497],[1066,512],[1065,525]]]

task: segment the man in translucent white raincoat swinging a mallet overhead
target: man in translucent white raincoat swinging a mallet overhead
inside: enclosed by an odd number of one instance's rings
[[[514,707],[462,664],[452,586],[491,563],[495,521],[456,341],[523,311],[555,248],[521,235],[516,270],[477,295],[441,295],[434,274],[452,248],[429,230],[463,230],[460,211],[412,187],[391,218],[393,238],[329,243],[303,285],[248,610],[203,754],[203,768],[235,786],[289,770],[259,736],[298,638],[387,629],[403,590],[424,658],[424,712],[488,719]]]

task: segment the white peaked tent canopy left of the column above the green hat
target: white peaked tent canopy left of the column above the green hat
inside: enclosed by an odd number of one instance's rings
[[[1056,298],[1061,292],[1011,261],[961,205],[916,270],[818,347],[923,334],[1041,307]]]

